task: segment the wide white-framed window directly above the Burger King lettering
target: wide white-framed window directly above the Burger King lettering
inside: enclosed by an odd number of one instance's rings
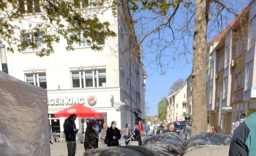
[[[71,72],[72,88],[106,87],[106,69]]]

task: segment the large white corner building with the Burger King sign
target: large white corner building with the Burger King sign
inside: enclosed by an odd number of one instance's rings
[[[117,34],[117,37],[98,43],[102,51],[93,51],[86,43],[74,43],[74,51],[67,51],[66,40],[61,38],[59,43],[53,43],[54,53],[50,56],[36,56],[40,48],[46,46],[43,44],[38,50],[27,48],[19,53],[14,48],[14,54],[6,54],[11,76],[47,89],[52,131],[63,131],[65,119],[54,117],[54,113],[76,103],[102,113],[104,119],[100,120],[108,126],[111,121],[116,121],[117,128],[121,129],[126,123],[133,127],[145,118],[145,79],[148,76],[141,55],[136,58],[129,55],[131,50],[140,53],[133,27],[123,19],[130,17],[130,13],[125,5],[119,7],[117,17],[113,17],[111,11],[108,9],[103,15],[98,15],[100,21],[108,21]],[[29,20],[40,19],[30,16]],[[28,21],[22,26],[28,27]],[[120,105],[120,102],[125,105]],[[80,132],[85,131],[86,120],[77,118]]]

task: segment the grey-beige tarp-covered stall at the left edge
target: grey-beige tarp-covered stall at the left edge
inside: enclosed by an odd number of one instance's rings
[[[0,156],[50,156],[46,89],[0,71]]]

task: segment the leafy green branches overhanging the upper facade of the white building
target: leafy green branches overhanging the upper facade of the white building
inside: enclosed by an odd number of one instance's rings
[[[46,44],[47,48],[38,52],[39,56],[53,53],[52,44],[58,43],[61,37],[67,40],[67,50],[73,49],[73,42],[82,43],[85,40],[93,50],[102,50],[97,43],[116,34],[109,28],[109,22],[100,22],[98,14],[104,13],[102,8],[107,5],[113,9],[115,16],[117,5],[114,3],[110,0],[1,1],[0,43],[8,43],[9,52],[14,52],[13,45],[22,52],[27,47],[38,48],[38,38],[43,36],[41,43]],[[91,6],[97,7],[93,11],[85,9]],[[82,11],[78,11],[78,8]],[[28,35],[31,32],[33,35]],[[72,37],[69,37],[70,33]]]

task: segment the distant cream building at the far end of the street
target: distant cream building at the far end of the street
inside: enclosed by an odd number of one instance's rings
[[[187,84],[168,97],[167,123],[183,121],[187,114]]]

